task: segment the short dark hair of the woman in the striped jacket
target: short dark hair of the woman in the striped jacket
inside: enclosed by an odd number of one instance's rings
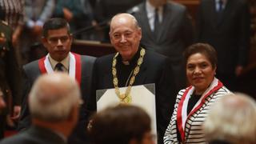
[[[217,66],[217,52],[213,46],[210,46],[207,43],[195,43],[186,48],[183,54],[185,64],[187,63],[188,58],[190,58],[192,54],[197,53],[205,55],[206,58],[208,58],[208,60],[210,61],[213,68]]]

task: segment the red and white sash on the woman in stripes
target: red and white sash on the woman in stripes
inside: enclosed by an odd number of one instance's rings
[[[199,110],[204,104],[206,98],[213,94],[214,91],[219,90],[223,86],[222,82],[220,82],[217,78],[214,78],[214,81],[210,84],[209,88],[202,94],[202,97],[195,104],[194,108],[190,111],[190,114],[187,114],[187,106],[190,99],[190,95],[194,92],[194,86],[189,86],[184,94],[182,95],[181,101],[178,103],[178,111],[177,111],[177,125],[178,130],[182,137],[182,142],[185,142],[185,125],[187,118],[190,118],[191,114],[194,114],[197,110]]]

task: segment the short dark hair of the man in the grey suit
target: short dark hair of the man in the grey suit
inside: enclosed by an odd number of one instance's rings
[[[42,36],[47,37],[49,30],[58,30],[62,28],[67,28],[68,33],[70,34],[70,25],[63,18],[50,18],[42,26]]]

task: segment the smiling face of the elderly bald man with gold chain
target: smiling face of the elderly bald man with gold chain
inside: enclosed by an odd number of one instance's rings
[[[142,31],[134,26],[134,20],[127,15],[114,18],[110,26],[110,41],[121,56],[129,61],[138,51]]]

